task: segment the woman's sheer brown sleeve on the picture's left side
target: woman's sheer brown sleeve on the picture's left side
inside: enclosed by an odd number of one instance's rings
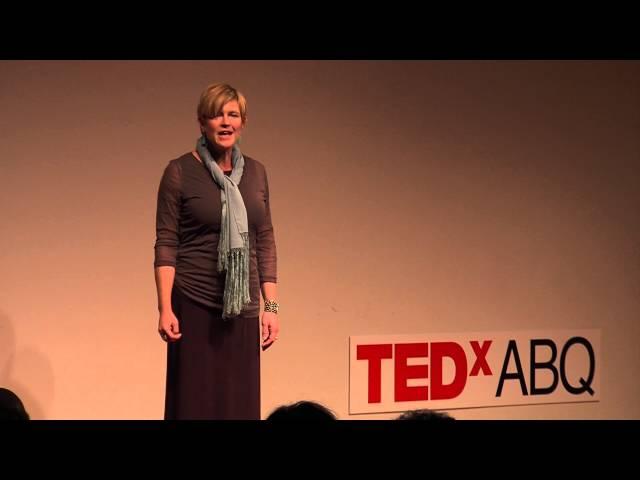
[[[156,208],[154,267],[175,267],[176,265],[180,225],[181,173],[178,162],[171,161],[160,180]]]

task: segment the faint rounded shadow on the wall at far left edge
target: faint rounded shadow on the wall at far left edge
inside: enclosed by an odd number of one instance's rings
[[[46,418],[54,392],[51,364],[35,348],[16,350],[13,324],[3,311],[0,311],[0,387],[13,391],[22,400],[31,419]]]

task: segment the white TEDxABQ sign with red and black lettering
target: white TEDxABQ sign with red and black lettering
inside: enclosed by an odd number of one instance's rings
[[[349,413],[599,401],[600,331],[350,337]]]

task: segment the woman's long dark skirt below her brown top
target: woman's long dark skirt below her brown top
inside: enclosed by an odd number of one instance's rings
[[[258,318],[223,320],[175,286],[171,304],[182,337],[167,346],[165,420],[260,420]]]

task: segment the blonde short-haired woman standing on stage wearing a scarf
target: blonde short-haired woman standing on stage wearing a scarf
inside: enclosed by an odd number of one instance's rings
[[[200,96],[195,150],[158,190],[158,331],[168,343],[165,419],[260,419],[262,349],[278,339],[276,248],[264,166],[241,153],[245,97]]]

